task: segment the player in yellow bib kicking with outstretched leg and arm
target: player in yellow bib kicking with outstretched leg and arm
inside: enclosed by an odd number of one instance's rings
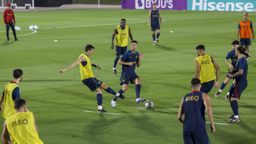
[[[108,111],[102,109],[102,89],[105,90],[108,93],[116,95],[119,99],[125,99],[125,96],[119,93],[116,93],[113,89],[108,87],[105,83],[99,81],[97,78],[93,77],[92,74],[92,68],[91,66],[95,68],[101,69],[100,66],[94,65],[91,63],[89,59],[89,55],[91,56],[94,52],[94,47],[90,44],[85,46],[85,52],[82,53],[79,58],[72,63],[70,66],[63,70],[59,70],[59,73],[64,73],[65,71],[75,67],[79,64],[80,67],[80,73],[81,73],[81,79],[82,82],[89,87],[89,89],[93,92],[97,92],[97,101],[98,101],[98,113],[108,113]]]

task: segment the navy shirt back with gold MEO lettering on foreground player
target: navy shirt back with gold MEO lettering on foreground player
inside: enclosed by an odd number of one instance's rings
[[[192,91],[183,98],[185,120],[183,132],[206,131],[203,92]]]

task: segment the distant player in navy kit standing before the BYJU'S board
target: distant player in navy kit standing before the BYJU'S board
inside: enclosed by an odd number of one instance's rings
[[[159,17],[159,18],[158,18]],[[154,43],[153,44],[159,44],[158,38],[160,36],[160,25],[159,25],[159,19],[161,22],[161,27],[163,27],[163,23],[162,23],[162,17],[161,17],[161,13],[159,10],[156,9],[156,3],[153,4],[153,9],[149,11],[148,14],[148,27],[149,27],[149,20],[151,18],[151,31],[153,34],[153,40]],[[155,36],[155,31],[157,30],[157,34]]]

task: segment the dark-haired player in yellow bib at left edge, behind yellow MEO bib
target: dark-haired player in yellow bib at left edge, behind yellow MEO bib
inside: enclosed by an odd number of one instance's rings
[[[6,119],[16,113],[14,109],[14,100],[20,98],[20,87],[23,71],[21,69],[13,70],[13,81],[7,83],[4,87],[4,92],[0,98],[1,110],[3,111],[3,117]],[[4,108],[2,103],[4,101]]]

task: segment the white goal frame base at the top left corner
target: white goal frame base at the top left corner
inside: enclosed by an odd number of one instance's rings
[[[12,9],[34,9],[34,0],[12,0],[11,7]]]

